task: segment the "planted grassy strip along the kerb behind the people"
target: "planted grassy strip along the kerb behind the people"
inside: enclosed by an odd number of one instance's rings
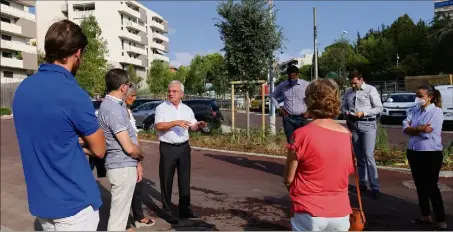
[[[382,132],[383,131],[383,132]],[[141,132],[141,139],[158,141],[157,134],[152,132]],[[378,129],[376,138],[375,159],[378,165],[409,168],[406,158],[406,147],[389,148],[388,138],[385,130]],[[327,142],[327,139],[326,139]],[[271,135],[267,129],[264,136],[259,129],[250,129],[250,139],[247,138],[245,130],[234,131],[232,134],[223,134],[220,130],[212,131],[211,134],[190,132],[190,144],[196,147],[212,149],[252,152],[275,156],[286,156],[286,137],[283,131]],[[453,141],[444,148],[444,165],[442,170],[453,170]]]

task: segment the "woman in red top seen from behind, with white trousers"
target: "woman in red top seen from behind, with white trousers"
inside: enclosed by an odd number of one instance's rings
[[[351,135],[334,120],[340,113],[338,86],[316,80],[307,87],[305,102],[313,121],[294,131],[285,167],[291,225],[296,231],[347,231],[354,164]]]

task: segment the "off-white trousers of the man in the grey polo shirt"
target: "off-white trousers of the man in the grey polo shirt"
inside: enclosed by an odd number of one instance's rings
[[[107,178],[112,185],[112,203],[107,225],[108,231],[125,231],[135,183],[137,183],[137,168],[126,167],[107,170]]]

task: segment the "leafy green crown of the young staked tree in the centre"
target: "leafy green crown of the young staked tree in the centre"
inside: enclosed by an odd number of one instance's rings
[[[265,0],[228,0],[219,3],[217,13],[221,19],[215,26],[224,42],[225,68],[231,80],[267,79],[273,53],[283,39],[276,12]]]

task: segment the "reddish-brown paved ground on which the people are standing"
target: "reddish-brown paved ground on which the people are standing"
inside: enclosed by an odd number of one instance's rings
[[[142,143],[146,159],[145,212],[159,215],[158,145]],[[87,164],[88,165],[88,164]],[[282,184],[284,160],[192,149],[192,205],[201,218],[169,225],[157,219],[154,227],[141,230],[289,230],[288,193]],[[419,212],[416,192],[408,173],[380,170],[381,199],[363,197],[368,225],[366,230],[428,230],[410,225]],[[176,185],[175,180],[175,185]],[[350,180],[352,182],[352,179]],[[447,222],[453,226],[453,179],[441,179]],[[104,205],[99,230],[106,230],[109,214],[109,184],[99,179]],[[177,203],[174,186],[173,202]],[[350,195],[353,206],[356,196]],[[332,206],[334,207],[334,206]],[[12,120],[1,120],[1,223],[8,229],[39,230],[28,211],[20,153]]]

